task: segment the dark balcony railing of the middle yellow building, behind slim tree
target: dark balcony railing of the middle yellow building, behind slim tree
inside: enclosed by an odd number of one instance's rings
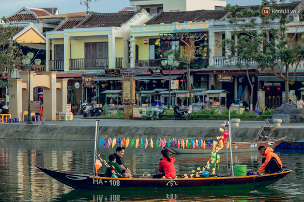
[[[164,60],[164,58],[155,60],[135,60],[135,67],[162,67],[162,60]],[[179,59],[177,58],[177,60]],[[208,67],[208,57],[195,57],[190,63],[190,68],[192,69],[201,69],[206,67]],[[177,68],[185,69],[187,68],[187,64],[181,62]]]

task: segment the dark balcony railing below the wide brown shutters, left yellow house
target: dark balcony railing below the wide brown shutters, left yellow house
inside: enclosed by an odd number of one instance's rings
[[[84,70],[84,69],[105,69],[109,67],[109,60],[107,58],[97,59],[70,59],[70,70]]]

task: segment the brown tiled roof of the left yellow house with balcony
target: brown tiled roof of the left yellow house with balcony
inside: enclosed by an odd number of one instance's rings
[[[94,13],[87,20],[81,22],[77,28],[121,26],[122,23],[132,18],[134,14],[134,12]]]

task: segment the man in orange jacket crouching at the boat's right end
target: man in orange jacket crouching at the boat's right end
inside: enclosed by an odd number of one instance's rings
[[[282,163],[279,159],[278,155],[273,153],[273,149],[270,147],[265,148],[264,146],[259,146],[258,152],[262,156],[266,156],[265,161],[261,165],[261,167],[258,169],[258,174],[264,174],[264,173],[276,173],[282,171]]]

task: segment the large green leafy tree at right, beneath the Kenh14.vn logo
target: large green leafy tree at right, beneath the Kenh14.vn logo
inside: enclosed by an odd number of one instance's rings
[[[284,8],[284,4],[277,3],[283,3],[284,1],[262,0],[262,5],[263,7],[286,11],[288,8]],[[293,38],[289,38],[287,25],[290,21],[286,18],[288,13],[270,12],[269,15],[264,16],[262,9],[261,7],[253,10],[247,7],[236,12],[235,16],[228,15],[227,21],[238,27],[235,30],[235,34],[240,36],[242,33],[243,36],[239,37],[237,45],[229,40],[225,40],[224,43],[231,51],[239,51],[240,54],[237,57],[240,61],[245,61],[245,65],[248,64],[248,61],[254,61],[258,68],[262,70],[268,68],[275,76],[285,81],[285,102],[288,103],[289,82],[294,82],[297,68],[304,57],[304,46],[295,40],[298,27],[302,24],[300,22],[297,25]],[[235,12],[236,6],[228,4],[225,10]],[[302,18],[300,13],[299,16]],[[304,40],[302,39],[303,42]],[[292,78],[290,78],[289,71],[293,65],[296,67]],[[248,65],[246,66],[248,69]]]

